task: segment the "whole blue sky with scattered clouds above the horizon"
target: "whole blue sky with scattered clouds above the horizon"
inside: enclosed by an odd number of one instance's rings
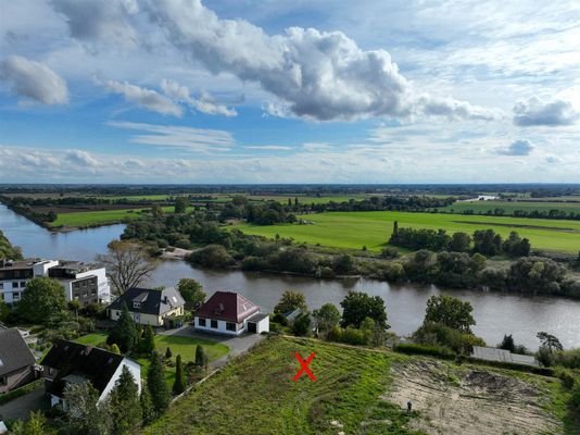
[[[18,0],[0,183],[579,183],[580,3]]]

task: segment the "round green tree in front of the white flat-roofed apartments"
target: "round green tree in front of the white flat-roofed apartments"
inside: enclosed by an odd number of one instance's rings
[[[48,324],[66,308],[64,288],[56,279],[46,276],[26,283],[17,310],[31,323]]]

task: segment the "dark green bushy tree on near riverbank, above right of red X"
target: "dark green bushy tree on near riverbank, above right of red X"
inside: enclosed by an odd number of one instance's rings
[[[369,296],[364,291],[349,291],[340,306],[342,307],[342,327],[361,327],[366,318],[373,319],[383,330],[390,327],[387,324],[384,300],[379,296]]]

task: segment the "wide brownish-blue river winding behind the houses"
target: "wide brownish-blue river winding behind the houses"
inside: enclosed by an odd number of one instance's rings
[[[102,226],[72,233],[50,233],[0,204],[0,229],[8,239],[23,249],[26,257],[92,261],[106,251],[106,244],[117,238],[124,225]],[[173,286],[179,278],[198,279],[209,294],[214,290],[236,290],[272,311],[286,289],[304,293],[311,309],[323,303],[339,306],[351,289],[364,290],[384,299],[389,324],[400,335],[408,335],[421,323],[425,304],[431,295],[447,293],[474,306],[477,325],[474,332],[489,345],[513,334],[517,344],[537,349],[535,333],[556,335],[566,348],[580,347],[580,301],[483,293],[476,290],[442,290],[434,286],[393,286],[373,279],[318,281],[303,276],[248,273],[241,271],[209,271],[191,268],[184,261],[159,261],[151,285]]]

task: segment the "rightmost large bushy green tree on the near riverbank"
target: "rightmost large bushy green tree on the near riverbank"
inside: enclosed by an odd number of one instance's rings
[[[427,300],[424,324],[440,323],[462,333],[470,333],[470,326],[476,324],[471,312],[474,308],[468,301],[449,295],[431,296]]]

